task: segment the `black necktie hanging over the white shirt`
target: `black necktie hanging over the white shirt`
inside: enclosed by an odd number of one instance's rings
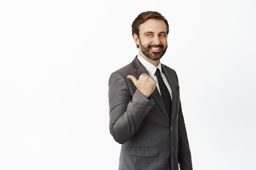
[[[164,84],[159,68],[157,68],[155,75],[157,75],[157,82],[159,84],[162,99],[164,100],[164,106],[167,110],[169,118],[171,118],[171,95],[168,91],[168,88]]]

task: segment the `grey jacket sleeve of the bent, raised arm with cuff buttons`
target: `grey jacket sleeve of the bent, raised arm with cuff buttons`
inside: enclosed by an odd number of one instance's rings
[[[119,144],[124,144],[135,135],[142,120],[155,104],[139,90],[131,93],[130,86],[135,86],[131,82],[117,72],[110,75],[108,82],[109,128]]]

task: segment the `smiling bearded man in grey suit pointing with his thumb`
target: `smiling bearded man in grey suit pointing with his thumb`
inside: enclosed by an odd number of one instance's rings
[[[168,32],[160,13],[139,14],[132,22],[139,55],[110,75],[109,127],[122,144],[119,170],[178,170],[178,164],[192,170],[178,78],[160,62]]]

